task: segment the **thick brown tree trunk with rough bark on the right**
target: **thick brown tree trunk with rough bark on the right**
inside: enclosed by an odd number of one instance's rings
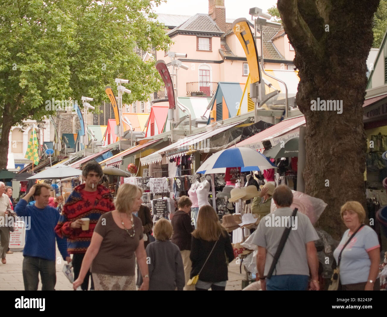
[[[372,17],[379,0],[278,0],[277,7],[299,69],[297,105],[305,115],[305,193],[327,208],[317,222],[336,239],[348,200],[365,206],[366,137],[362,105],[367,84]],[[329,31],[325,31],[326,24]],[[342,100],[337,111],[312,111],[311,101]],[[327,181],[329,186],[326,186]]]

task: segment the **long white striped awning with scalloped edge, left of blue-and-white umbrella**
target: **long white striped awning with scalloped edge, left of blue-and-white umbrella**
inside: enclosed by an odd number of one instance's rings
[[[140,159],[141,165],[149,165],[151,163],[160,162],[163,159],[162,157],[163,154],[166,157],[171,158],[176,156],[182,156],[185,153],[187,153],[187,151],[190,150],[191,148],[195,148],[195,149],[205,148],[205,145],[202,141],[211,138],[211,136],[224,132],[230,129],[231,127],[234,127],[240,124],[241,122],[243,121],[229,124],[228,126],[221,126],[213,131],[207,131],[207,132],[202,132],[191,136],[187,136],[186,138],[178,140],[175,143],[168,145],[165,148],[162,148],[161,150],[158,150],[157,152],[154,152],[151,155],[141,158]]]

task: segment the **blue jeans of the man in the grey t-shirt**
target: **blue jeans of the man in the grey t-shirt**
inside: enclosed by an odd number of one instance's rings
[[[266,280],[266,289],[268,291],[306,291],[308,280],[308,275],[273,275]]]

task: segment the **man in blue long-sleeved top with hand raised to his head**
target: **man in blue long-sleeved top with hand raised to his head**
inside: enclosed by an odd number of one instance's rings
[[[54,231],[59,214],[55,208],[48,206],[50,190],[47,184],[36,184],[15,206],[15,212],[19,217],[31,217],[29,218],[30,229],[26,230],[26,245],[23,250],[23,281],[26,291],[38,290],[39,272],[42,279],[42,291],[55,289],[57,283],[55,239],[63,260],[68,263],[71,261],[67,253],[67,239],[59,238]],[[31,196],[34,196],[35,204],[27,206]]]

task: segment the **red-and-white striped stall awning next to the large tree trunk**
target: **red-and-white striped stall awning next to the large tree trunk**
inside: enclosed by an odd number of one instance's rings
[[[254,150],[264,148],[262,141],[276,138],[284,133],[287,133],[293,129],[296,129],[305,124],[305,117],[290,118],[274,124],[274,126],[265,129],[264,131],[247,138],[236,144],[236,146],[249,147]]]

